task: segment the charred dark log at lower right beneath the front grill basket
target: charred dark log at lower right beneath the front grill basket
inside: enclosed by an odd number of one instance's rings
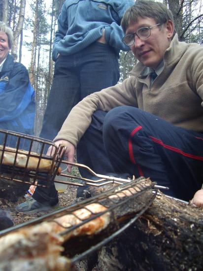
[[[133,226],[95,257],[88,259],[86,265],[92,269],[86,270],[202,270],[202,209],[164,195],[156,198]]]

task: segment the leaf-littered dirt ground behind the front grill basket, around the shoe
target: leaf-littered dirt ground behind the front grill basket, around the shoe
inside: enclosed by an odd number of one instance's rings
[[[71,205],[71,203],[74,202],[76,199],[76,189],[76,186],[68,185],[68,188],[65,192],[59,193],[59,204],[47,212],[40,212],[35,214],[24,214],[16,212],[16,205],[24,202],[24,197],[19,198],[16,203],[11,203],[7,200],[0,199],[0,209],[3,209],[7,212],[8,216],[10,216],[10,218],[12,219],[14,225],[18,225],[34,218],[40,217],[46,213],[50,213],[56,209]]]

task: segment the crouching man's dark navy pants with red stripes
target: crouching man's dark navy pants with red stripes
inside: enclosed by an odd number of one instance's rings
[[[203,183],[203,134],[175,127],[135,107],[95,112],[77,154],[79,163],[97,173],[150,177],[169,186],[164,193],[186,201]]]

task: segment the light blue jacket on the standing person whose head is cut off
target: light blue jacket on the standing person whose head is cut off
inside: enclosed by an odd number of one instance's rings
[[[66,0],[58,18],[52,58],[71,55],[95,42],[105,29],[106,42],[119,56],[120,50],[129,51],[122,42],[120,26],[125,11],[134,0]]]

